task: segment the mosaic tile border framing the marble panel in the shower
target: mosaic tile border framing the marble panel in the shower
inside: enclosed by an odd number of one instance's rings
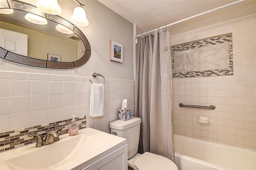
[[[200,47],[206,47],[210,45],[228,43],[229,51],[229,68],[227,69],[216,69],[216,70],[200,70],[190,72],[174,72],[174,53],[177,51],[183,51],[188,49],[195,49]],[[197,41],[191,41],[188,43],[182,43],[179,45],[171,46],[172,55],[172,77],[173,78],[186,78],[186,77],[205,77],[205,76],[225,76],[234,74],[234,63],[233,63],[233,43],[232,33],[209,37],[206,39],[200,39]]]

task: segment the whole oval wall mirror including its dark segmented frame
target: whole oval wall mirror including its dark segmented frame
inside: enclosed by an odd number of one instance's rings
[[[75,25],[57,15],[50,15],[35,6],[16,0],[0,2],[1,8],[14,9],[13,14],[0,14],[1,32],[10,30],[27,35],[27,52],[15,53],[1,44],[0,57],[14,63],[44,68],[76,68],[90,57],[90,44]],[[27,13],[46,18],[46,25],[37,25],[25,20]],[[74,33],[61,33],[56,25],[61,24]],[[1,33],[1,34],[2,34]],[[1,36],[3,37],[3,36]],[[25,44],[25,43],[24,43]],[[26,48],[24,48],[26,49]],[[50,60],[50,57],[58,61]]]

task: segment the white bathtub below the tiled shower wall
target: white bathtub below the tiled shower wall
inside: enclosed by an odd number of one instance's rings
[[[174,135],[179,170],[256,170],[256,152]]]

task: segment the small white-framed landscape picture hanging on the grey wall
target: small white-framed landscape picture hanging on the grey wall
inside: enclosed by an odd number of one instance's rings
[[[110,61],[123,63],[123,45],[110,40]]]

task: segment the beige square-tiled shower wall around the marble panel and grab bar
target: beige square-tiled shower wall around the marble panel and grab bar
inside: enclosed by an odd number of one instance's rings
[[[234,75],[173,78],[174,133],[256,150],[256,15],[171,36],[171,45],[224,33],[233,34]],[[209,125],[199,124],[199,115]]]

